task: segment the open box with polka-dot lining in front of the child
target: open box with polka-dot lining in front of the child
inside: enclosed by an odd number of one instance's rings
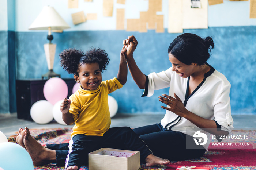
[[[140,152],[101,148],[89,153],[89,170],[138,170]]]

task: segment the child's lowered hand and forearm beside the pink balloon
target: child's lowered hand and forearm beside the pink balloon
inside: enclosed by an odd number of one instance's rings
[[[65,98],[60,105],[60,111],[62,112],[62,119],[67,125],[71,125],[74,123],[74,118],[71,115],[71,113],[69,113],[70,103],[71,103],[70,99]]]

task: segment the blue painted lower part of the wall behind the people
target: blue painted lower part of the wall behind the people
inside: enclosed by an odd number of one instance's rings
[[[208,29],[184,30],[202,37],[213,36],[215,48],[208,63],[223,73],[231,83],[231,109],[234,114],[256,114],[256,26],[210,27]],[[59,66],[58,54],[69,47],[87,50],[100,47],[109,54],[110,63],[103,72],[103,79],[117,75],[123,39],[135,35],[139,44],[135,60],[144,74],[160,72],[171,66],[167,55],[170,42],[180,34],[157,34],[126,31],[69,31],[53,33],[57,44],[54,72],[62,78],[72,78]],[[0,34],[0,36],[4,35]],[[1,42],[2,43],[2,42]],[[41,78],[47,72],[43,44],[47,43],[45,32],[16,32],[16,78]],[[2,52],[4,53],[4,51]],[[1,66],[2,62],[0,63]],[[2,68],[1,68],[2,69]],[[4,78],[0,74],[1,78]],[[3,80],[3,79],[2,79]],[[2,86],[2,83],[0,83]],[[2,88],[1,88],[2,89]],[[0,89],[0,90],[1,90]],[[127,84],[111,95],[118,101],[120,113],[164,113],[158,96],[168,89],[155,92],[152,97],[140,97],[143,93],[128,73]],[[1,99],[1,105],[2,99]]]

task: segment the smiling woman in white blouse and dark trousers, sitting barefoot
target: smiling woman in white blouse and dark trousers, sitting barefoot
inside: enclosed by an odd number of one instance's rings
[[[124,45],[133,48],[137,44],[134,36],[124,40]],[[159,100],[167,105],[162,106],[166,114],[161,123],[134,129],[154,155],[170,161],[198,158],[205,153],[210,141],[200,145],[205,141],[201,143],[197,138],[196,143],[193,138],[194,134],[198,134],[196,132],[203,128],[205,131],[200,132],[209,138],[210,134],[228,134],[233,129],[230,83],[206,62],[213,47],[211,37],[202,39],[195,34],[182,34],[173,40],[168,49],[172,67],[148,76],[136,65],[133,51],[127,49],[129,70],[138,87],[145,89],[143,96],[149,97],[154,90],[169,88],[168,95],[159,96]],[[65,161],[68,144],[48,145],[45,148],[29,135],[29,131],[27,139],[25,136],[23,140],[24,135],[22,132],[20,134],[21,138],[17,139],[21,145],[24,142],[25,147],[30,148],[34,165],[56,160],[57,165],[61,165]],[[192,149],[186,149],[186,146]]]

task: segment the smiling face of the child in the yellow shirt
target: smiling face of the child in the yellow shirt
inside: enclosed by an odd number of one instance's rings
[[[98,63],[83,64],[80,66],[79,76],[75,80],[80,82],[84,90],[95,90],[101,84],[101,70]]]

